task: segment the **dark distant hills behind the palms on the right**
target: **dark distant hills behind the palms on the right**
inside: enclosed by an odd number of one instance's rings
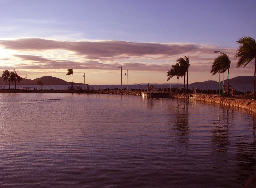
[[[221,80],[221,82],[223,82],[223,80]],[[228,80],[224,80],[224,82],[226,84],[228,84]],[[217,84],[219,82],[214,81],[214,80],[208,80],[208,81],[204,81],[204,82],[194,82],[191,83],[191,85],[213,85],[213,84]],[[233,84],[241,84],[241,85],[248,85],[248,84],[253,84],[253,76],[237,76],[235,78],[231,78],[229,79],[229,85],[233,85]]]

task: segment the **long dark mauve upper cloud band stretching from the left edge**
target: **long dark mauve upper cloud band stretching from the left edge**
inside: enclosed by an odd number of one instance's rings
[[[84,55],[88,59],[122,59],[128,57],[166,58],[172,55],[196,50],[196,44],[134,43],[125,41],[57,41],[41,38],[0,40],[0,45],[12,50],[67,50]]]

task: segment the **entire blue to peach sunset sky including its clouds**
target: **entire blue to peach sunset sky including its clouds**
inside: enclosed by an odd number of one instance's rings
[[[85,74],[86,84],[120,84],[121,75],[122,84],[168,83],[167,71],[185,55],[188,83],[218,81],[210,70],[220,50],[231,60],[229,78],[253,76],[253,62],[236,68],[234,55],[239,38],[256,38],[255,7],[255,0],[0,0],[0,69],[70,82],[72,68],[73,82]]]

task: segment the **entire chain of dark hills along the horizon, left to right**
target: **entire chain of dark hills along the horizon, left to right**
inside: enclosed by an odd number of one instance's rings
[[[22,78],[22,81],[20,81],[19,83],[17,82],[16,85],[37,85],[37,81],[41,80],[42,83],[44,85],[71,85],[71,82],[67,82],[65,80],[62,80],[60,78],[56,78],[56,77],[52,77],[52,76],[43,76],[41,78],[36,78],[34,80],[30,80],[30,79],[26,79],[26,78]],[[221,80],[222,82],[223,80]],[[224,80],[224,82],[226,84],[228,84],[227,80]],[[0,77],[0,84],[3,83],[3,78]],[[153,85],[168,85],[170,83],[151,83],[151,82],[147,82],[147,83],[135,83],[133,85],[148,85],[149,84],[153,84]],[[215,85],[217,84],[217,81],[214,80],[207,80],[204,82],[194,82],[191,83],[190,85]],[[7,85],[8,82],[4,82],[4,85]],[[81,85],[83,83],[77,83],[77,82],[73,82],[74,85]],[[177,83],[172,83],[172,85],[177,84]],[[180,84],[183,84],[180,83]],[[229,85],[233,85],[233,84],[244,84],[244,85],[248,85],[248,84],[253,84],[253,76],[237,76],[235,78],[231,78],[229,79]],[[10,83],[10,85],[14,85],[14,83]]]

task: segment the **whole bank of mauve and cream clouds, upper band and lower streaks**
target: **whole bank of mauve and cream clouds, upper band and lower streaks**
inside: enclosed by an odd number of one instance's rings
[[[190,43],[135,43],[115,40],[61,41],[42,38],[0,40],[13,50],[17,65],[24,69],[116,70],[123,65],[135,71],[167,71],[178,57],[189,56],[191,71],[210,72],[218,56],[215,46]],[[219,49],[226,52],[227,49]],[[229,49],[234,57],[236,49]],[[227,53],[227,52],[226,52]],[[34,55],[36,54],[36,55]],[[40,55],[38,55],[40,54]],[[9,59],[9,58],[8,58]],[[232,64],[236,61],[231,59]]]

